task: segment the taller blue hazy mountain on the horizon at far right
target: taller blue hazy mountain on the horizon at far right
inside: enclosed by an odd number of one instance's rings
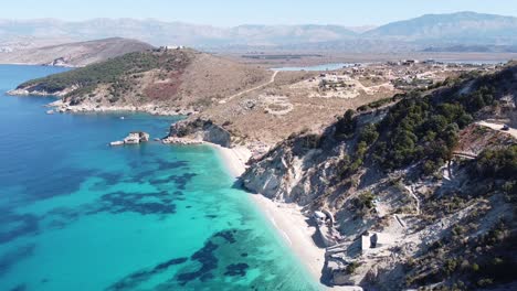
[[[439,43],[508,44],[517,42],[517,18],[474,12],[428,14],[382,25],[363,36]]]

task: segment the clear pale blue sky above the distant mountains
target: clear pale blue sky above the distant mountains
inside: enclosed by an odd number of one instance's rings
[[[137,18],[217,26],[384,24],[425,13],[475,11],[517,17],[516,0],[9,0],[0,19]]]

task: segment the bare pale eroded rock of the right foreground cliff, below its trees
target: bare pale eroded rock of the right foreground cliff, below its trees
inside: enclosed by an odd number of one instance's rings
[[[362,118],[366,123],[380,120],[378,115]],[[386,173],[367,159],[366,166],[344,179],[341,160],[356,141],[334,139],[334,131],[327,129],[317,146],[310,134],[287,140],[242,176],[250,191],[305,206],[307,215],[319,209],[335,214],[341,237],[327,241],[321,279],[329,284],[400,290],[436,283],[433,273],[443,263],[451,258],[473,263],[477,255],[465,255],[465,249],[475,248],[500,219],[513,219],[515,206],[493,185],[503,182],[474,179],[473,161],[461,157],[429,176],[416,164]],[[509,136],[472,125],[461,132],[457,149],[477,157],[511,144],[517,143]],[[382,241],[372,247],[372,236]]]

